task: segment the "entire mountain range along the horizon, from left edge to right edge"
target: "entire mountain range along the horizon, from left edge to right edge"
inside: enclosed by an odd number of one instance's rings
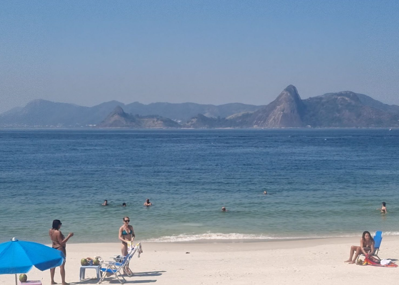
[[[123,107],[123,109],[122,109]],[[180,124],[178,124],[178,122]],[[302,100],[289,85],[268,105],[241,103],[201,105],[195,103],[105,102],[83,107],[34,100],[23,108],[0,114],[0,126],[102,127],[399,127],[399,106],[387,105],[351,91],[327,93]]]

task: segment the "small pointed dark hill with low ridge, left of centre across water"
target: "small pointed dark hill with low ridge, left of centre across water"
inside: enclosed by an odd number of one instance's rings
[[[125,113],[120,106],[116,106],[97,127],[177,128],[180,127],[180,125],[169,118],[156,115],[140,116],[128,114]]]

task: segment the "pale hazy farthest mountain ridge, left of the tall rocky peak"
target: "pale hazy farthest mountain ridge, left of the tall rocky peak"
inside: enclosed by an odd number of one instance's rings
[[[253,111],[261,106],[230,103],[224,105],[201,105],[195,103],[152,103],[139,102],[123,104],[118,101],[101,103],[93,107],[34,100],[23,108],[14,108],[0,114],[0,126],[80,126],[100,123],[116,106],[122,106],[126,113],[138,115],[159,115],[178,121],[204,114],[213,117],[227,117],[238,112]]]

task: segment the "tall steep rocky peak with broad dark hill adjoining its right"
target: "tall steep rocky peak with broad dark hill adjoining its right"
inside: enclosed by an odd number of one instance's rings
[[[289,85],[272,103],[249,117],[245,115],[241,127],[399,126],[399,110],[396,107],[351,91],[302,100],[295,86]],[[240,116],[235,117],[238,118]]]

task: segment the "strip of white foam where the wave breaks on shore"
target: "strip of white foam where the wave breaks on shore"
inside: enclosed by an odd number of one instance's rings
[[[398,233],[399,234],[399,233]],[[145,242],[187,242],[196,240],[285,240],[285,239],[310,239],[310,238],[332,238],[332,237],[350,237],[356,236],[352,234],[347,235],[314,235],[314,236],[268,236],[263,234],[242,234],[242,233],[212,233],[210,231],[202,234],[183,233],[179,235],[162,236],[159,238],[150,238]]]

